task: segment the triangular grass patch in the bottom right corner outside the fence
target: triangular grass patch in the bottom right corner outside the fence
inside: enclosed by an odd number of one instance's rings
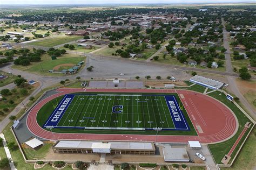
[[[231,168],[221,168],[225,170],[240,170],[240,169],[253,169],[255,168],[256,162],[256,129],[252,130],[252,133],[242,147],[241,152],[238,154]]]

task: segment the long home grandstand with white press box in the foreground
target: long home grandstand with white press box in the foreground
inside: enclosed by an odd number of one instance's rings
[[[59,140],[52,146],[55,153],[154,154],[150,142]]]

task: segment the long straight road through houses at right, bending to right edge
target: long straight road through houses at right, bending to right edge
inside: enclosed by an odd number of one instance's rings
[[[233,66],[231,63],[231,56],[230,56],[230,45],[228,44],[228,32],[225,29],[225,23],[224,19],[222,18],[223,23],[223,44],[224,47],[227,49],[225,53],[225,60],[226,60],[226,73],[233,73]],[[256,119],[256,110],[252,107],[250,103],[245,99],[244,95],[241,94],[239,91],[239,88],[237,86],[236,77],[233,76],[227,76],[228,84],[230,84],[230,89],[232,93],[239,97],[240,102],[245,106],[245,108],[250,112],[250,115],[253,117],[253,119]]]

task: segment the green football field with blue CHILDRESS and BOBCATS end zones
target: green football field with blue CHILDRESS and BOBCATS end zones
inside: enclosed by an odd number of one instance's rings
[[[175,95],[68,94],[44,128],[190,130]]]

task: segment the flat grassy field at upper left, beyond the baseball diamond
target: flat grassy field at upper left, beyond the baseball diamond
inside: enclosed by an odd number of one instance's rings
[[[43,40],[33,41],[33,42],[30,42],[29,45],[53,47],[53,46],[57,46],[60,44],[68,43],[70,41],[82,39],[82,38],[83,37],[80,37],[80,36],[58,36],[58,37],[46,38]]]

